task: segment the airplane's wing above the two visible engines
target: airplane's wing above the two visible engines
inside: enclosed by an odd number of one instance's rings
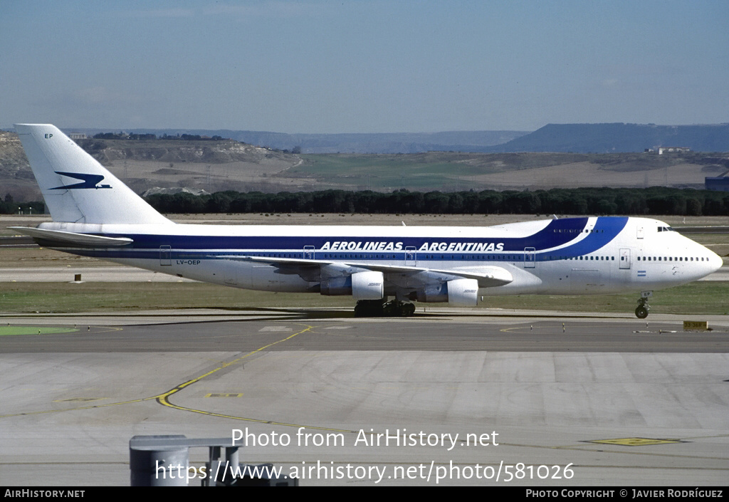
[[[354,268],[367,269],[382,272],[383,274],[398,274],[404,276],[424,275],[424,279],[441,279],[443,281],[453,278],[476,279],[478,287],[496,287],[507,285],[514,280],[512,274],[507,269],[499,266],[480,266],[468,269],[428,269],[426,267],[403,266],[403,265],[383,265],[369,262],[358,261],[335,261],[335,260],[304,260],[300,258],[270,258],[262,256],[222,256],[227,260],[254,261],[259,263],[268,263],[269,265],[279,266],[284,269],[292,270],[297,273],[296,269],[311,269],[313,266],[334,266],[337,268]]]

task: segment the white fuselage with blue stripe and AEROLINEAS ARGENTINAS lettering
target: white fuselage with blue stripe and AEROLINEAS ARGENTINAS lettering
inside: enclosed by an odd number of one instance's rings
[[[286,292],[319,292],[326,274],[393,266],[424,273],[386,272],[390,296],[405,297],[448,279],[429,271],[458,275],[489,268],[504,269],[512,281],[480,287],[481,296],[619,293],[691,282],[722,263],[666,223],[636,217],[458,228],[79,223],[39,228],[134,241],[114,249],[59,248],[64,251],[203,282]],[[308,268],[308,260],[319,266]]]

